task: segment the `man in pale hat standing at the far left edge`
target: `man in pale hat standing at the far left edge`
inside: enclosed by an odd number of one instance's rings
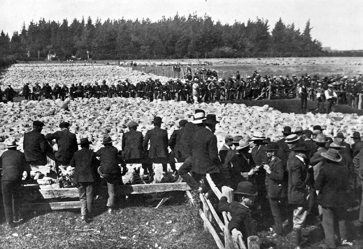
[[[13,227],[13,221],[19,221],[20,219],[20,181],[27,162],[24,154],[17,150],[19,145],[15,139],[6,141],[5,146],[8,150],[4,151],[0,157],[0,168],[2,168],[1,191],[5,221],[7,226]]]

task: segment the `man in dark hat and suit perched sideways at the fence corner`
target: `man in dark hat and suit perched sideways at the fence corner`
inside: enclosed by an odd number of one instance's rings
[[[204,178],[204,191],[209,196],[212,192],[209,187],[208,181],[205,178],[206,174],[210,174],[214,183],[220,185],[220,172],[222,162],[219,159],[217,137],[214,135],[215,125],[219,122],[216,120],[214,114],[208,114],[206,119],[203,120],[205,128],[200,129],[193,135],[191,161],[191,172],[194,180]]]

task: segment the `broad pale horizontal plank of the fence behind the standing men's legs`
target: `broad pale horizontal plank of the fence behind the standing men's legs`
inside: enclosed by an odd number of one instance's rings
[[[120,195],[191,190],[191,188],[185,182],[123,185],[119,188]],[[101,187],[100,189],[107,191],[107,187]],[[77,188],[39,189],[38,191],[41,193],[44,199],[78,196]]]

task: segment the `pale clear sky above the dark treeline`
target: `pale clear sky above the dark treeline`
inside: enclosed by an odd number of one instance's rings
[[[363,49],[362,0],[0,0],[0,30],[11,37],[23,22],[40,18],[61,22],[67,18],[93,21],[142,19],[152,21],[196,12],[214,21],[233,24],[235,20],[268,20],[270,31],[281,17],[285,24],[295,24],[303,31],[310,19],[311,36],[323,47],[336,50]]]

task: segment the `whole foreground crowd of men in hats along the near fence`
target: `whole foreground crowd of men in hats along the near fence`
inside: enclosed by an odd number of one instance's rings
[[[363,186],[363,141],[359,132],[339,132],[330,137],[332,134],[324,132],[320,125],[311,130],[296,127],[294,131],[286,126],[278,141],[270,141],[256,131],[252,137],[227,135],[224,145],[218,149],[214,132],[219,122],[214,114],[195,110],[192,120],[181,120],[180,129],[174,130],[170,138],[161,128],[162,123],[160,117],[154,117],[154,128],[144,137],[137,131],[138,124],[131,121],[129,131],[122,136],[121,151],[106,136],[104,147],[94,152],[90,148],[92,141],[87,138],[77,143],[68,122],[61,122],[59,131],[43,135],[44,124],[34,121],[32,131],[24,134],[24,153],[17,150],[15,140],[8,140],[8,150],[0,157],[7,225],[12,227],[14,221],[19,221],[23,171],[28,173],[29,165],[44,165],[48,156],[56,161],[56,167],[74,167],[73,181],[78,187],[82,220],[92,218],[95,185],[100,177],[107,181],[107,206],[109,213],[113,213],[121,198],[116,193],[123,184],[122,176],[128,171],[126,163],[142,163],[146,181],[153,180],[153,163],[163,164],[164,176],[168,175],[169,163],[174,176],[179,175],[191,189],[206,198],[213,197],[206,174],[210,174],[217,187],[234,189],[236,201],[228,203],[222,197],[219,210],[231,213],[229,231],[235,240],[240,234],[247,239],[256,235],[256,229],[269,227],[267,217],[272,214],[273,236],[285,236],[292,228],[297,249],[303,242],[302,228],[307,217],[313,217],[324,231],[325,248],[349,245],[353,238],[347,232],[346,214],[359,203],[360,214],[355,226],[358,233],[363,231],[363,202],[359,196]],[[344,135],[351,136],[354,143],[344,142]],[[57,142],[56,153],[50,148],[53,140]],[[183,163],[178,170],[175,160]],[[336,240],[336,235],[341,240]]]

